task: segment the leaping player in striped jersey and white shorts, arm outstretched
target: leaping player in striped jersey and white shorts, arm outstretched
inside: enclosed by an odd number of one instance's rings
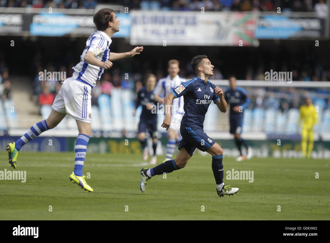
[[[87,144],[91,135],[91,90],[100,80],[104,69],[112,67],[111,61],[133,57],[143,51],[143,47],[135,47],[130,52],[113,53],[109,46],[111,37],[119,31],[119,20],[112,9],[99,10],[93,17],[97,31],[89,36],[86,48],[81,55],[81,61],[74,66],[73,76],[67,78],[56,96],[52,111],[46,120],[34,124],[16,142],[7,144],[9,163],[17,168],[17,155],[21,147],[39,136],[42,132],[52,129],[66,116],[72,116],[79,131],[75,145],[75,166],[70,175],[70,181],[78,184],[87,191],[93,189],[86,183],[82,167],[86,156]]]

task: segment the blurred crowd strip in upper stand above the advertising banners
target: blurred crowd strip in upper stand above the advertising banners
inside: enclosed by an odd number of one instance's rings
[[[97,4],[117,4],[130,10],[163,11],[315,11],[324,18],[326,0],[0,0],[0,7],[95,9]]]

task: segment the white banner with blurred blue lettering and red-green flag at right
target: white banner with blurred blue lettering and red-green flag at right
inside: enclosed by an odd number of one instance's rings
[[[131,11],[131,45],[257,46],[257,14]]]

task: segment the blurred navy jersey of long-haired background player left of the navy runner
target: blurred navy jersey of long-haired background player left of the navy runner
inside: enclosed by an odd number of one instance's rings
[[[135,103],[135,108],[138,108],[139,105],[142,105],[140,120],[142,118],[145,120],[157,119],[157,113],[152,113],[151,110],[148,110],[146,106],[147,103],[151,103],[152,105],[157,103],[156,101],[154,101],[154,96],[155,95],[153,94],[153,90],[148,92],[146,87],[143,87],[139,90],[138,97]]]

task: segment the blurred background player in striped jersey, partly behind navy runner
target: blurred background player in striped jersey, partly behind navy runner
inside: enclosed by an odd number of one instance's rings
[[[167,77],[159,79],[154,91],[155,101],[159,103],[164,103],[165,97],[171,93],[174,88],[186,82],[186,79],[181,78],[178,75],[180,72],[180,62],[178,60],[172,59],[168,61],[167,65],[167,71],[169,74]],[[166,158],[164,161],[172,158],[175,150],[175,144],[181,140],[180,122],[184,114],[183,97],[173,100],[172,105],[174,107],[174,114],[172,114],[171,128],[167,132],[168,142],[166,145]]]

